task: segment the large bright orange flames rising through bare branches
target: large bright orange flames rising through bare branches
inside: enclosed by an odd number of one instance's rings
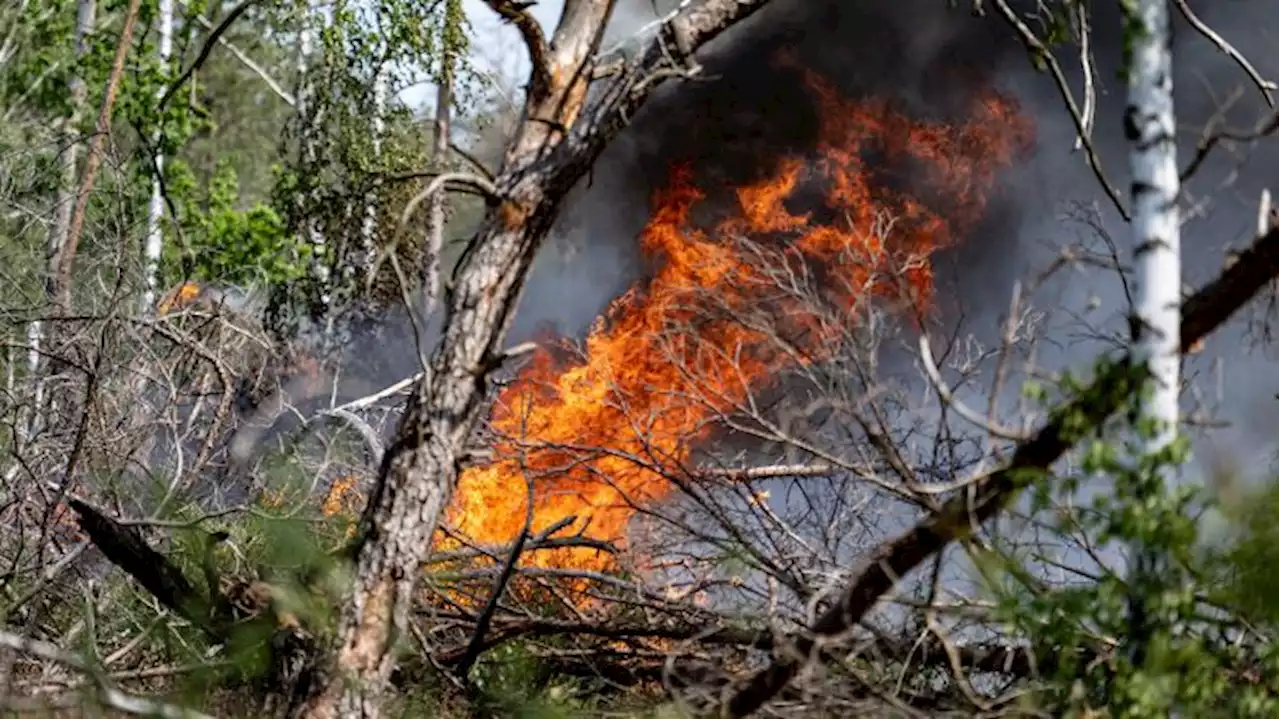
[[[815,159],[783,159],[768,179],[737,188],[733,211],[710,226],[692,219],[707,197],[689,169],[672,171],[640,238],[658,265],[652,279],[613,302],[579,358],[544,347],[503,389],[490,421],[504,436],[500,458],[461,477],[449,513],[457,531],[480,544],[509,542],[525,526],[531,476],[532,532],[572,516],[562,533],[621,544],[636,507],[672,490],[663,473],[689,470],[717,416],[785,366],[823,360],[823,334],[835,328],[771,294],[771,269],[742,238],[772,243],[786,262],[820,267],[837,307],[904,284],[918,307],[928,306],[929,255],[982,217],[997,171],[1032,138],[1029,120],[1014,101],[986,91],[964,123],[915,122],[805,75],[820,114]],[[901,182],[892,173],[910,173],[928,198],[893,188]],[[788,209],[797,194],[818,191],[810,211]],[[803,360],[778,349],[776,328],[735,321],[735,310],[765,297]],[[612,558],[557,549],[522,562],[603,569]]]

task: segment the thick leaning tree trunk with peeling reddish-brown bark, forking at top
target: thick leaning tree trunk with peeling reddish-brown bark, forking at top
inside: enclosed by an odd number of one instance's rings
[[[444,330],[404,412],[361,519],[356,563],[332,661],[296,715],[378,716],[387,700],[397,640],[407,627],[422,562],[449,503],[465,444],[486,399],[486,379],[503,360],[503,338],[534,253],[564,197],[590,169],[659,77],[696,72],[689,54],[768,0],[682,4],[658,36],[631,56],[596,58],[614,0],[568,0],[548,42],[524,5],[488,0],[521,32],[531,75],[516,138],[494,183],[490,209],[447,283]],[[593,75],[612,78],[593,93]],[[429,191],[443,191],[444,177]]]

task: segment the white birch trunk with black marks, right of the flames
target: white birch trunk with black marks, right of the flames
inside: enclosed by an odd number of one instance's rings
[[[1166,0],[1126,3],[1129,104],[1125,136],[1130,142],[1133,173],[1133,242],[1138,274],[1134,307],[1134,351],[1152,377],[1151,394],[1140,416],[1153,420],[1156,432],[1146,441],[1148,453],[1166,448],[1178,432],[1179,322],[1181,319],[1181,265],[1178,214],[1178,156],[1174,116],[1172,38]],[[1151,491],[1156,491],[1152,487]],[[1135,548],[1132,582],[1161,582],[1155,557]],[[1143,595],[1142,590],[1135,596]],[[1134,658],[1143,656],[1144,609],[1135,600]],[[1140,661],[1139,661],[1140,663]]]

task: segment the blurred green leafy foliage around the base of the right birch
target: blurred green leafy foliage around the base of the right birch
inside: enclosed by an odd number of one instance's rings
[[[1089,400],[1085,394],[1074,406]],[[1137,400],[1125,421],[1087,439],[1078,472],[1037,482],[1033,509],[1047,513],[1061,536],[1089,537],[1091,551],[1128,548],[1160,571],[1098,567],[1050,583],[1027,553],[988,553],[979,562],[998,617],[1047,669],[1036,704],[1064,716],[1274,716],[1280,652],[1270,641],[1242,640],[1280,618],[1280,583],[1271,577],[1280,559],[1280,493],[1263,494],[1240,531],[1212,545],[1203,518],[1220,508],[1216,498],[1199,484],[1170,481],[1189,457],[1185,438],[1149,453],[1157,427],[1138,416]],[[1085,478],[1106,489],[1082,505]],[[1242,613],[1258,624],[1249,629]]]

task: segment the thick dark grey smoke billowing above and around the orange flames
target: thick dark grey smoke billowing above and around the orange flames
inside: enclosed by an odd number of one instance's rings
[[[948,5],[943,0],[778,0],[724,38],[704,59],[701,78],[650,102],[580,188],[561,225],[575,253],[544,262],[531,278],[512,339],[525,339],[547,324],[567,334],[580,331],[643,275],[636,235],[648,219],[650,194],[668,180],[673,162],[692,166],[696,182],[714,197],[719,188],[769,174],[780,159],[813,148],[818,118],[796,73],[774,61],[782,50],[850,97],[887,99],[922,119],[960,116],[983,84],[1011,93],[1034,118],[1032,156],[1005,174],[982,226],[937,258],[948,320],[963,319],[968,331],[993,340],[1014,281],[1047,265],[1061,247],[1093,234],[1066,217],[1079,215],[1080,207],[1096,209],[1128,264],[1126,228],[1084,155],[1073,152],[1074,124],[1051,75],[1036,70],[995,9],[975,18],[969,3]],[[1280,0],[1202,0],[1192,6],[1263,75],[1280,75],[1272,42],[1280,32]],[[1111,184],[1128,201],[1120,24],[1117,4],[1096,4],[1096,146]],[[1244,129],[1266,106],[1239,68],[1185,22],[1178,23],[1175,52],[1180,161],[1185,165],[1207,123],[1219,119]],[[1079,58],[1065,49],[1059,59],[1079,102]],[[1233,104],[1224,110],[1228,100]],[[1277,157],[1280,143],[1263,142],[1248,156],[1220,151],[1188,186],[1188,196],[1201,203],[1185,225],[1189,285],[1220,270],[1228,246],[1248,241],[1260,189],[1268,183],[1280,189],[1271,169]],[[1092,312],[1087,311],[1091,298],[1097,307]],[[1115,273],[1064,274],[1036,299],[1057,310],[1047,326],[1056,342],[1044,344],[1038,356],[1050,367],[1084,370],[1106,348],[1103,342],[1082,336],[1085,324],[1123,330],[1126,301]],[[1265,379],[1268,360],[1247,352],[1245,339],[1245,322],[1239,321],[1188,362],[1187,372],[1197,377],[1219,415],[1234,422],[1212,438],[1212,446],[1265,454],[1271,440],[1261,427],[1276,417],[1277,403],[1272,383]],[[1229,383],[1211,381],[1224,372]]]

